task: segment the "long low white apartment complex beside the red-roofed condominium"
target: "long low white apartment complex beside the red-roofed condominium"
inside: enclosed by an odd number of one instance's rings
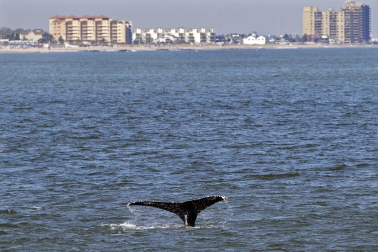
[[[169,28],[133,30],[133,44],[155,43],[215,43],[214,28]]]

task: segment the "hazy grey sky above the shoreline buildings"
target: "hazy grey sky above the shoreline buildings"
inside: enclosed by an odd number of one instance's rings
[[[356,2],[362,2],[357,0]],[[378,1],[364,0],[378,37]],[[104,14],[136,28],[214,27],[218,34],[302,34],[303,6],[341,8],[344,0],[0,0],[0,26],[48,31],[54,15]]]

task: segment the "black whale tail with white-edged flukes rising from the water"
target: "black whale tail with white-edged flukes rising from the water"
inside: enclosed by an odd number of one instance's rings
[[[178,202],[157,202],[157,201],[137,201],[127,204],[131,205],[145,205],[149,207],[156,207],[178,215],[186,226],[194,227],[197,215],[207,207],[219,201],[226,200],[227,197],[209,196],[206,198],[195,199],[192,201]]]

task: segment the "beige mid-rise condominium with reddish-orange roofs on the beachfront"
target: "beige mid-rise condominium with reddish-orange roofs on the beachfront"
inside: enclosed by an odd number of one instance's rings
[[[54,16],[50,17],[50,34],[54,40],[104,41],[132,44],[132,23],[112,20],[107,16]]]

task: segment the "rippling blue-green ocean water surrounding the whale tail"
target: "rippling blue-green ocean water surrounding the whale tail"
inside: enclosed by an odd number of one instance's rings
[[[1,251],[378,251],[377,49],[0,63]]]

